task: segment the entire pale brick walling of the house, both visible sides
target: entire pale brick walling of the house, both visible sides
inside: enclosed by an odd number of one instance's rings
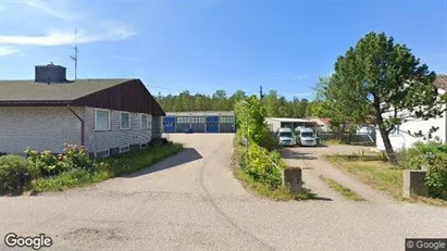
[[[148,128],[140,128],[140,113],[131,113],[131,129],[120,129],[120,111],[111,111],[111,129],[95,130],[94,108],[72,108],[85,121],[88,151],[107,151],[129,145],[148,143],[152,137],[152,116]],[[80,122],[67,106],[0,106],[0,152],[61,152],[63,145],[80,145]]]

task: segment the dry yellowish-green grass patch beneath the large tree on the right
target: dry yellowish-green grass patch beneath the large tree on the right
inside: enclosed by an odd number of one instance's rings
[[[344,155],[325,155],[324,158],[334,166],[356,176],[360,181],[368,184],[375,189],[386,191],[397,200],[447,205],[447,201],[439,199],[425,197],[403,198],[403,171],[393,167],[387,162],[374,160],[374,158],[359,160]]]

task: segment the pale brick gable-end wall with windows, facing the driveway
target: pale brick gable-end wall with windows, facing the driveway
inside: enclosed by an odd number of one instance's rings
[[[147,143],[152,137],[152,116],[148,116],[149,127],[140,128],[140,113],[131,113],[131,129],[120,129],[120,111],[111,111],[111,130],[95,131],[95,109],[86,108],[85,142],[91,152],[105,151],[134,143]]]

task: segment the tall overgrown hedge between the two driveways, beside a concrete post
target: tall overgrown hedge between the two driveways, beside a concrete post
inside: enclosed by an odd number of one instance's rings
[[[277,141],[266,126],[265,108],[256,96],[245,99],[235,108],[238,130],[234,142],[234,174],[254,193],[274,200],[311,199],[303,189],[291,192],[282,184],[286,163],[276,151]]]

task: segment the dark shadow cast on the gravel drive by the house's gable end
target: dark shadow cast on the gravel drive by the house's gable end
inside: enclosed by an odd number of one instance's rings
[[[197,161],[203,159],[202,155],[200,155],[200,153],[194,149],[194,148],[185,148],[181,153],[167,158],[154,165],[151,165],[149,167],[146,167],[144,170],[137,171],[135,173],[128,174],[128,175],[124,175],[124,178],[134,178],[134,177],[138,177],[141,175],[146,175],[146,174],[151,174],[151,173],[156,173],[159,171],[163,171],[163,170],[167,170],[167,168],[172,168],[172,167],[176,167],[193,161]]]

